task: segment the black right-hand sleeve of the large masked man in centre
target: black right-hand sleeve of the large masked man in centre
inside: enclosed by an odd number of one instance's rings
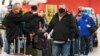
[[[70,15],[70,21],[69,21],[69,29],[70,29],[70,39],[78,38],[78,25],[76,19]]]

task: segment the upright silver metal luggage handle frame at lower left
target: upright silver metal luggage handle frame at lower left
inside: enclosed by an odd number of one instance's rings
[[[21,40],[24,40],[24,53],[21,54]],[[26,55],[26,37],[24,37],[24,35],[22,37],[18,37],[17,39],[17,47],[18,47],[18,51],[17,51],[17,54],[15,53],[16,52],[16,40],[14,39],[14,50],[13,50],[13,54],[9,55],[9,56],[32,56],[32,55]]]

